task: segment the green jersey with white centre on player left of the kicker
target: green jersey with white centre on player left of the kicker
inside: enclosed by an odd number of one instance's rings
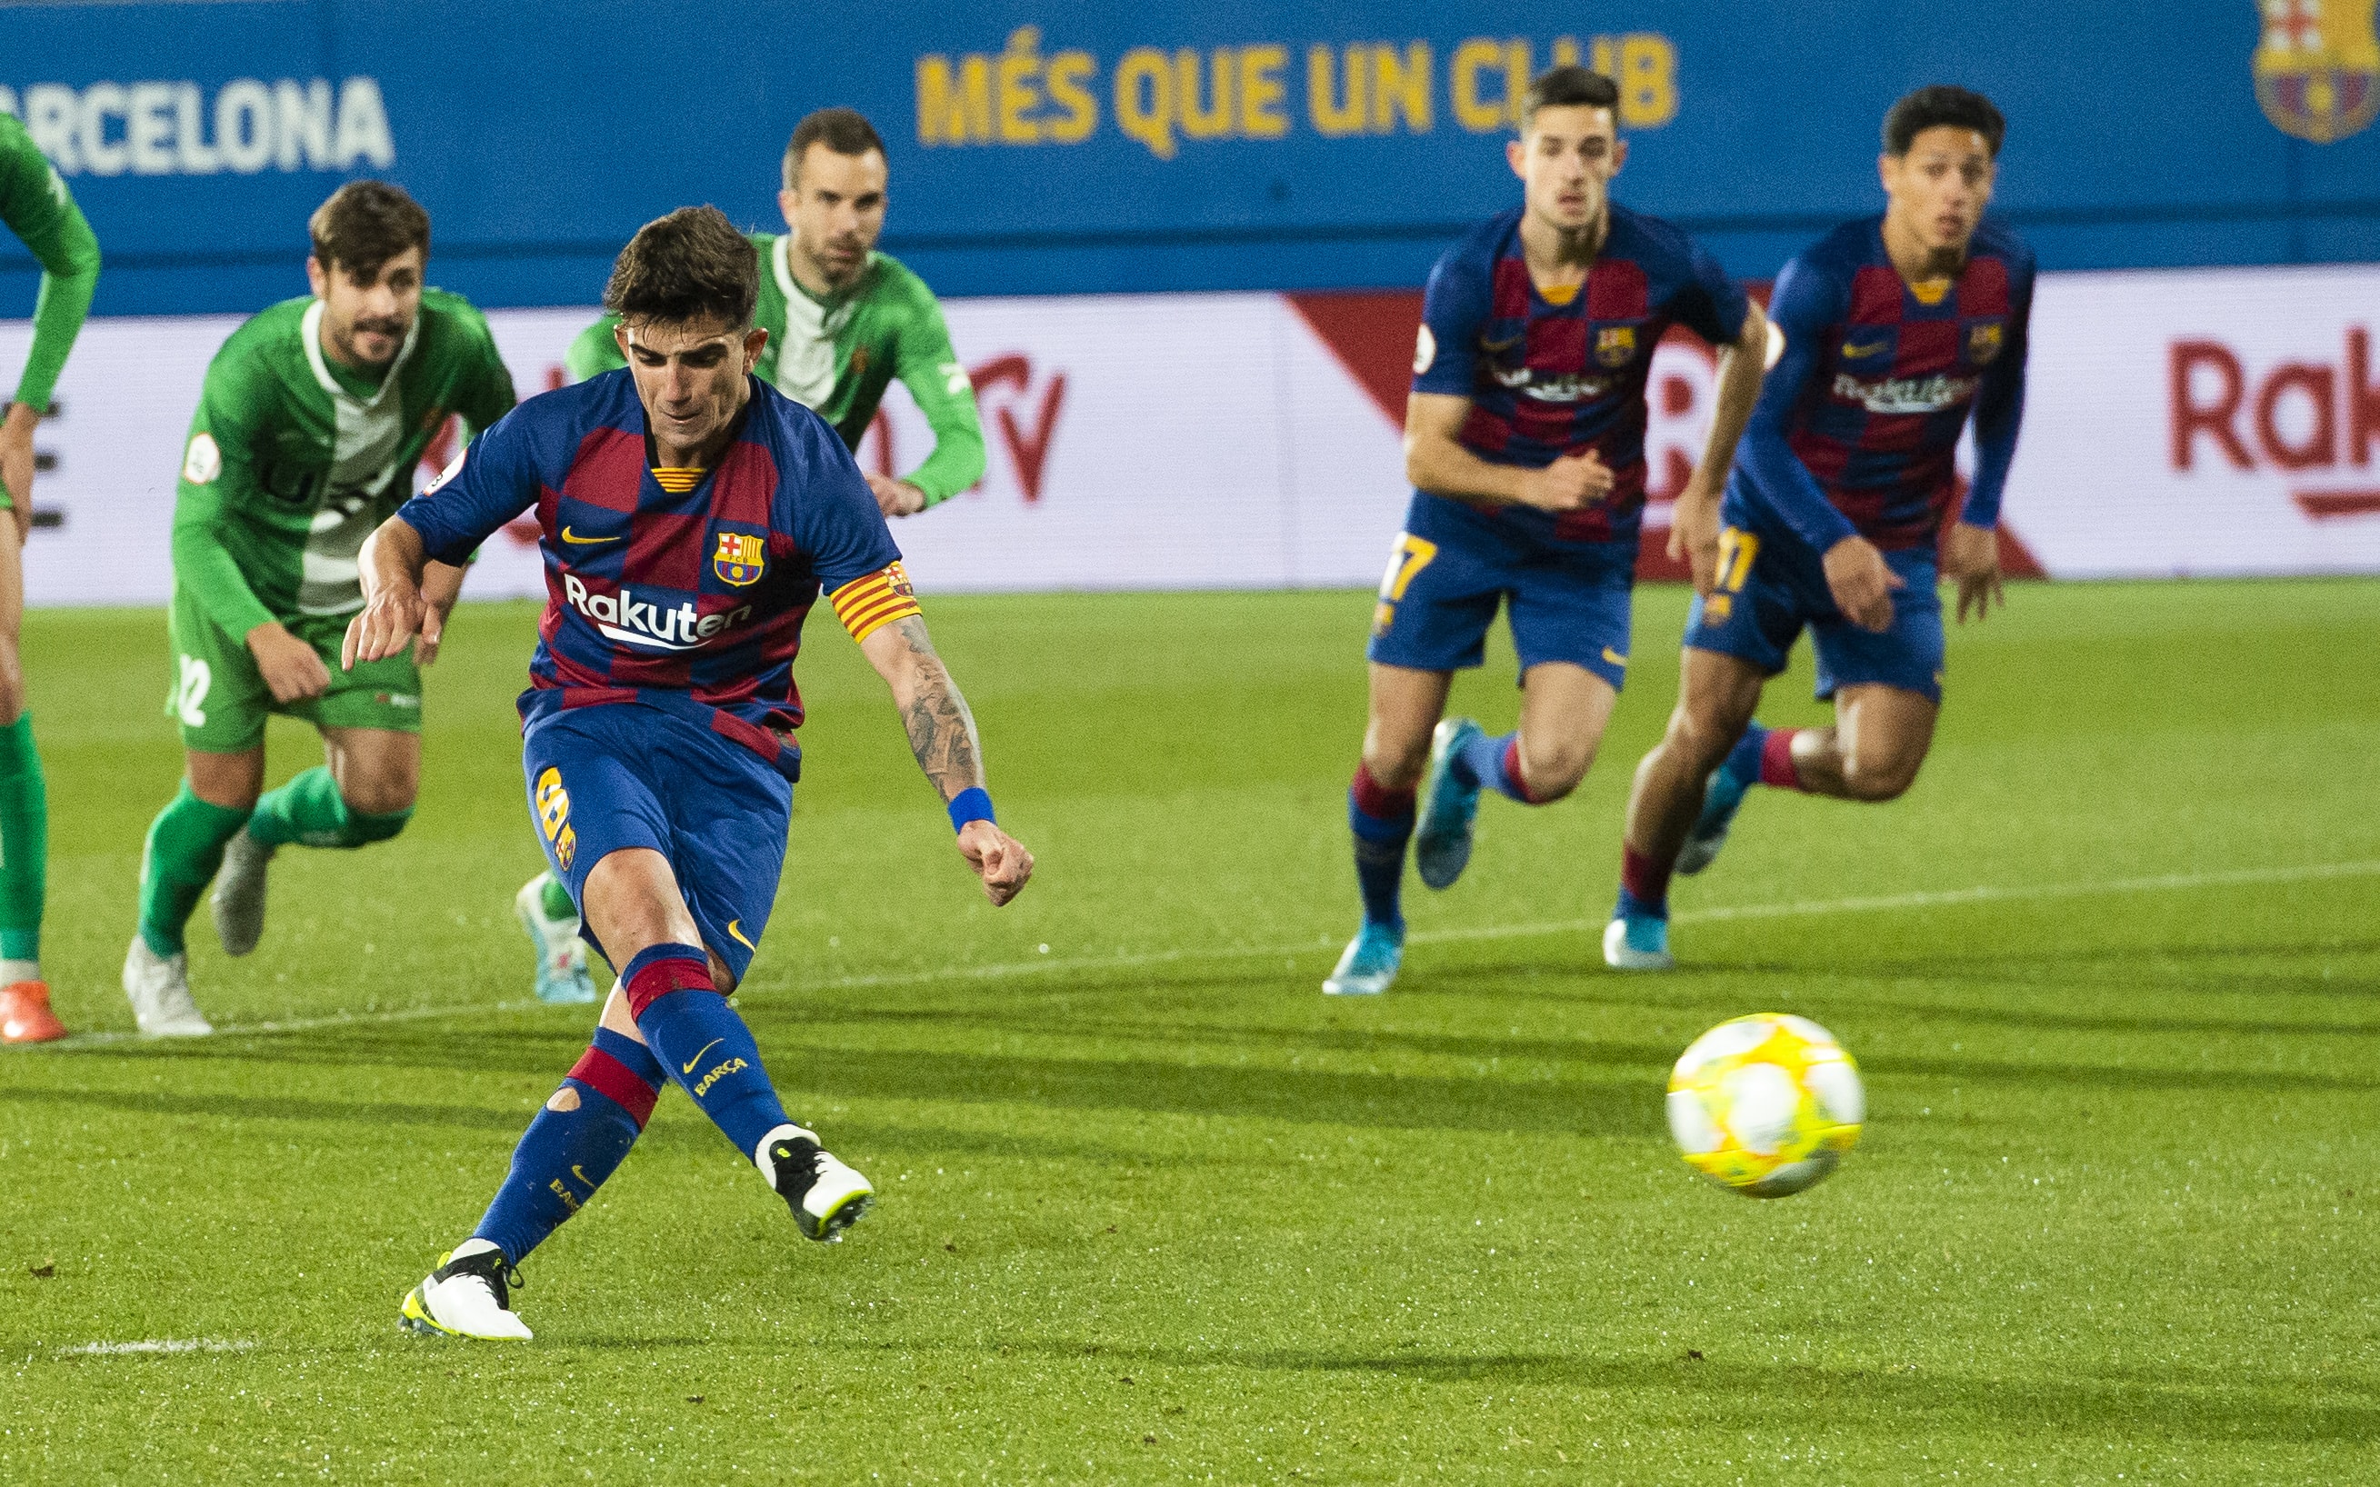
[[[321,300],[252,316],[207,364],[174,502],[174,590],[231,640],[362,609],[357,552],[414,492],[447,414],[466,438],[512,412],[512,374],[462,295],[421,290],[369,385],[321,350]]]

